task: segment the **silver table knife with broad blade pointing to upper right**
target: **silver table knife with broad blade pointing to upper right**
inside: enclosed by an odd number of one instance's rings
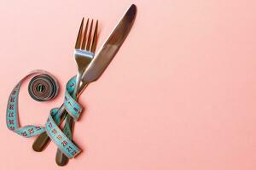
[[[89,82],[96,81],[99,77],[101,77],[103,71],[106,70],[109,63],[113,59],[114,55],[117,54],[120,46],[125,41],[125,37],[127,37],[128,33],[131,30],[131,26],[135,20],[137,14],[137,7],[136,5],[132,4],[130,8],[125,12],[124,16],[119,20],[117,26],[115,26],[114,30],[112,31],[111,35],[108,37],[107,41],[103,44],[102,48],[99,52],[95,55],[94,59],[91,60],[90,65],[84,71],[82,76],[82,85],[79,88],[79,95],[82,94],[84,90],[84,86],[86,86]],[[49,137],[42,133],[38,136],[38,139],[44,141],[44,144],[38,144],[38,150],[43,150],[42,148],[49,141]],[[36,139],[36,141],[38,140]],[[35,141],[35,143],[37,143]],[[67,164],[67,156],[62,153],[57,154],[58,159],[56,161],[59,165],[66,165]]]

